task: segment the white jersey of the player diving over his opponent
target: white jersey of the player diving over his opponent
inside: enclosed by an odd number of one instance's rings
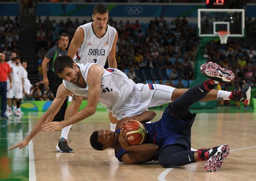
[[[86,87],[81,88],[77,84],[72,84],[63,80],[64,86],[74,95],[87,97],[88,95],[88,82],[87,76],[90,66],[97,65],[94,63],[77,64],[80,67],[81,74],[86,82]],[[101,66],[101,65],[98,65]],[[122,107],[127,97],[133,91],[135,83],[129,79],[127,75],[118,69],[108,68],[104,69],[104,74],[101,76],[101,93],[99,102],[103,104],[108,111],[116,111]]]

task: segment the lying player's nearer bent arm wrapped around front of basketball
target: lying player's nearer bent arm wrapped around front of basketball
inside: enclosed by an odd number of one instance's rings
[[[159,149],[157,145],[151,143],[129,145],[127,142],[125,129],[121,129],[118,141],[121,144],[121,147],[128,151],[121,157],[121,160],[125,164],[138,164],[147,162],[158,152]]]

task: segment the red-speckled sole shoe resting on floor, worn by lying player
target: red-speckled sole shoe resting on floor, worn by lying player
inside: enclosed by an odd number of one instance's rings
[[[198,149],[198,158],[201,161],[206,161],[204,169],[208,172],[216,172],[223,164],[224,158],[229,155],[229,145],[213,147],[211,149]]]

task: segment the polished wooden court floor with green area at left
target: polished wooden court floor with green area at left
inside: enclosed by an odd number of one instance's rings
[[[197,112],[197,111],[193,111]],[[202,111],[205,112],[205,111]],[[216,111],[212,111],[216,112]],[[218,111],[217,111],[218,112]],[[158,120],[162,111],[156,111]],[[58,153],[60,131],[42,131],[25,149],[7,148],[24,138],[42,113],[28,113],[21,119],[0,120],[0,180],[19,181],[241,181],[256,180],[256,112],[198,113],[192,127],[192,148],[229,144],[230,154],[214,173],[204,162],[179,168],[163,168],[158,162],[124,165],[113,149],[95,151],[89,137],[94,130],[108,129],[108,113],[97,112],[73,125],[68,139],[74,153]]]

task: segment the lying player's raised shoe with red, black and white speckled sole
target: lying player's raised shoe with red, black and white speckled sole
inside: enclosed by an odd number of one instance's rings
[[[222,68],[214,62],[207,62],[201,65],[200,70],[215,84],[225,84],[234,80],[235,75],[229,69]]]

